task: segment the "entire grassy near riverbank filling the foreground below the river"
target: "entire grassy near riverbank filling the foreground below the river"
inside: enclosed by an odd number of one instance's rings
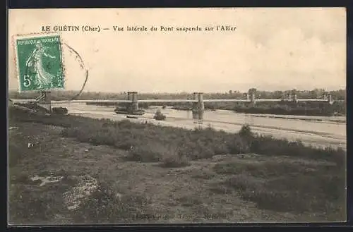
[[[345,219],[340,149],[255,138],[246,127],[189,131],[12,108],[9,118],[13,222]],[[83,183],[92,193],[73,210],[66,196]]]

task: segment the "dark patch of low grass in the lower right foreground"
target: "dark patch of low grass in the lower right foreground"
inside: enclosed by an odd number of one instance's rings
[[[345,170],[333,163],[258,161],[216,164],[213,169],[229,176],[216,184],[216,191],[236,190],[261,209],[339,212],[345,202]]]

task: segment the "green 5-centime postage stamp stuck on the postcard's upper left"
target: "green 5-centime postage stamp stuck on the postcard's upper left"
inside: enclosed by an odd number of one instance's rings
[[[15,39],[19,90],[63,90],[64,68],[60,35]]]

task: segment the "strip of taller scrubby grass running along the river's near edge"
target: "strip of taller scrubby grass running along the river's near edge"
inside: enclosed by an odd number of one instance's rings
[[[280,154],[326,159],[345,164],[344,149],[314,148],[304,146],[300,141],[290,142],[270,136],[253,135],[249,126],[244,126],[239,133],[225,133],[213,128],[188,131],[182,128],[162,128],[150,123],[132,123],[128,120],[116,122],[70,115],[45,116],[22,111],[18,113],[20,114],[9,114],[13,115],[13,120],[63,126],[63,136],[76,138],[80,142],[109,145],[119,149],[133,147],[133,160],[160,161],[161,157],[168,153],[169,147],[178,147],[179,154],[191,160],[207,159],[217,154],[251,152],[269,156]]]

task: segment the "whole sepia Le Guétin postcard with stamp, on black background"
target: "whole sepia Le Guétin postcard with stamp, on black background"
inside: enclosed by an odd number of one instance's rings
[[[8,223],[346,221],[345,8],[8,11]]]

